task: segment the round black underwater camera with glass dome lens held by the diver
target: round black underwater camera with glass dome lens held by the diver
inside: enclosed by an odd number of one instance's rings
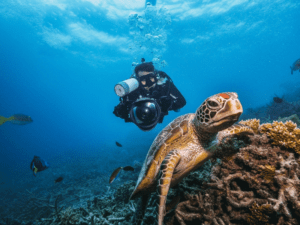
[[[161,108],[153,98],[136,100],[130,109],[130,118],[141,130],[153,129],[159,121]]]

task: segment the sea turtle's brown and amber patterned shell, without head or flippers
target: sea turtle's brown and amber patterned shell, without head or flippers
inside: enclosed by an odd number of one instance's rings
[[[142,192],[155,190],[162,161],[171,150],[185,147],[181,140],[189,133],[190,121],[194,116],[194,113],[189,113],[177,117],[157,135],[148,151],[131,199]]]

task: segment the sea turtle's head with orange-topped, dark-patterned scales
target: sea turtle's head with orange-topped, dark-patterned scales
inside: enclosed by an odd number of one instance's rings
[[[235,92],[226,92],[207,98],[197,109],[193,120],[201,133],[217,133],[238,121],[243,107]]]

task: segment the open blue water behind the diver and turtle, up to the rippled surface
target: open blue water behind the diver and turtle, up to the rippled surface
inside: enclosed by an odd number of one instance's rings
[[[290,70],[300,58],[297,1],[152,2],[148,11],[145,1],[0,2],[0,115],[33,119],[0,126],[1,191],[33,188],[41,177],[49,186],[58,175],[75,179],[74,168],[89,173],[91,164],[107,175],[143,161],[160,130],[216,93],[237,92],[244,109],[274,96],[300,100],[289,95],[300,89],[300,72]],[[149,132],[112,113],[114,85],[141,57],[187,101]],[[37,179],[34,155],[50,164]]]

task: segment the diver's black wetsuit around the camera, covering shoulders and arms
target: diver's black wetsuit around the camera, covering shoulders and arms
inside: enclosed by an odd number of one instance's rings
[[[168,115],[168,111],[176,111],[185,106],[185,98],[176,88],[172,79],[163,71],[157,71],[157,73],[160,78],[167,79],[165,83],[161,85],[156,84],[156,86],[151,88],[149,92],[143,89],[140,85],[133,92],[123,98],[120,98],[120,103],[115,107],[113,113],[124,119],[125,122],[132,122],[129,117],[129,111],[132,103],[135,102],[139,96],[154,98],[161,107],[161,116],[158,122],[162,123],[164,116]]]

